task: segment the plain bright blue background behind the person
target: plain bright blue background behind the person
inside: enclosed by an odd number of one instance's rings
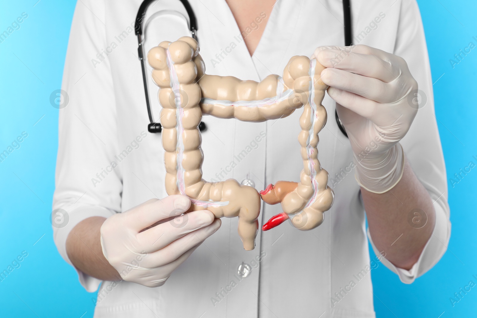
[[[28,137],[0,163],[0,271],[28,256],[0,282],[1,317],[93,317],[95,294],[84,291],[59,256],[49,222],[57,151],[58,110],[74,0],[1,1],[0,32],[22,12],[28,18],[0,43],[0,150]],[[448,178],[477,160],[477,49],[452,68],[449,59],[477,44],[475,0],[418,0],[432,68],[436,116]],[[442,76],[442,77],[441,77]],[[425,132],[423,132],[425,133]],[[477,287],[452,307],[469,280],[477,283],[477,168],[449,183],[452,237],[441,261],[412,285],[379,266],[372,271],[377,317],[475,317]],[[83,315],[83,316],[82,316]]]

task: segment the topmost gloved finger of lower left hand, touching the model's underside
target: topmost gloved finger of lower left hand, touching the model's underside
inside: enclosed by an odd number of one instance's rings
[[[125,212],[126,225],[139,232],[170,216],[181,215],[190,207],[185,195],[169,195],[163,199],[152,199]]]

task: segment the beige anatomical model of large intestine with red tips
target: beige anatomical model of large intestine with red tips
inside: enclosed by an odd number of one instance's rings
[[[241,81],[232,76],[205,74],[197,41],[182,37],[163,41],[147,56],[159,86],[160,118],[165,150],[166,192],[187,195],[189,211],[209,210],[216,217],[239,217],[239,236],[246,250],[255,247],[260,197],[268,204],[281,203],[283,213],[263,227],[268,230],[290,219],[291,225],[309,230],[323,222],[323,213],[333,203],[327,186],[328,173],[318,161],[318,133],[326,123],[321,105],[327,86],[321,82],[324,69],[315,59],[294,56],[283,78],[269,75],[261,82]],[[279,181],[260,192],[234,179],[207,182],[202,179],[201,136],[198,125],[203,114],[263,122],[286,117],[304,105],[300,117],[303,170],[300,182]]]

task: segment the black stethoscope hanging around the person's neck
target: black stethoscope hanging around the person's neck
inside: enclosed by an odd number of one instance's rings
[[[144,16],[147,8],[149,5],[155,0],[144,0],[143,3],[139,6],[139,10],[137,11],[137,16],[136,16],[136,21],[135,21],[135,34],[137,36],[137,42],[139,43],[139,46],[137,48],[137,53],[139,56],[139,60],[141,61],[141,66],[142,66],[142,71],[143,71],[143,82],[144,82],[144,92],[145,92],[145,97],[146,97],[146,106],[147,106],[147,115],[149,116],[149,124],[147,125],[147,130],[150,133],[160,133],[162,131],[162,126],[160,123],[154,121],[152,118],[152,112],[151,112],[151,104],[149,103],[149,92],[147,89],[147,78],[146,78],[146,65],[145,65],[145,60],[144,60],[144,48],[143,48],[143,41],[145,40],[143,38],[143,22],[144,22]],[[187,15],[189,16],[189,23],[188,27],[189,30],[192,34],[192,37],[197,41],[197,20],[196,20],[196,15],[194,13],[194,10],[192,10],[192,7],[190,6],[190,3],[187,0],[179,0],[184,8],[187,11]],[[175,14],[174,11],[170,10],[165,10],[166,13],[172,13]],[[344,19],[344,45],[345,46],[351,46],[353,44],[352,42],[352,35],[351,35],[351,8],[350,8],[350,0],[343,0],[343,19]],[[338,127],[340,128],[341,132],[348,137],[348,134],[346,133],[346,130],[344,129],[343,123],[341,122],[340,118],[338,117],[338,112],[335,111],[335,119],[336,123],[338,124]],[[200,122],[199,124],[199,130],[205,131],[207,129],[207,126],[204,122]]]

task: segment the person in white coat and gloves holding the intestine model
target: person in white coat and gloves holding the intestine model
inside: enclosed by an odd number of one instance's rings
[[[166,195],[161,136],[146,129],[131,27],[140,3],[78,1],[63,75],[70,102],[60,110],[53,209],[68,221],[54,227],[54,239],[86,290],[101,284],[94,317],[370,318],[373,268],[412,283],[436,264],[450,236],[449,207],[415,0],[352,1],[353,43],[363,44],[352,49],[323,46],[342,45],[340,0],[191,1],[209,74],[259,81],[281,75],[293,55],[313,54],[327,67],[319,158],[334,205],[311,231],[288,223],[259,231],[252,251],[242,247],[237,218],[197,211],[165,222],[190,202]],[[183,10],[172,0],[152,8]],[[174,33],[177,24],[159,28],[155,44],[185,35]],[[204,117],[204,178],[258,190],[298,181],[300,114],[264,123]],[[260,226],[280,212],[262,206]]]

